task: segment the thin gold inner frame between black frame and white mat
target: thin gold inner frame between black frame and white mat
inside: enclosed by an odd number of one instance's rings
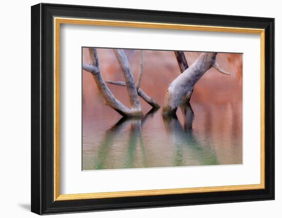
[[[183,25],[168,23],[147,23],[131,21],[109,21],[101,19],[83,19],[54,17],[54,201],[83,200],[83,199],[102,199],[109,197],[130,197],[146,195],[164,194],[183,194],[213,191],[235,191],[235,190],[254,190],[265,188],[265,30],[253,28],[237,27],[217,27],[202,25]],[[260,34],[260,184],[254,185],[232,185],[196,188],[175,188],[175,189],[155,189],[138,191],[117,191],[117,192],[98,192],[84,194],[60,194],[60,166],[59,166],[59,50],[60,50],[60,25],[98,25],[98,26],[118,26],[135,28],[155,28],[155,29],[175,29],[193,30],[207,32],[232,32],[232,33],[253,33]]]

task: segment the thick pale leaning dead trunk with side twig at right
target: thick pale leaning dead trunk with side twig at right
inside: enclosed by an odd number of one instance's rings
[[[215,52],[203,52],[188,69],[177,76],[169,85],[163,107],[164,115],[175,114],[180,104],[190,101],[194,85],[211,67],[214,67],[220,73],[229,74],[218,67],[215,62],[216,54]],[[182,67],[180,65],[179,67],[181,70]]]

